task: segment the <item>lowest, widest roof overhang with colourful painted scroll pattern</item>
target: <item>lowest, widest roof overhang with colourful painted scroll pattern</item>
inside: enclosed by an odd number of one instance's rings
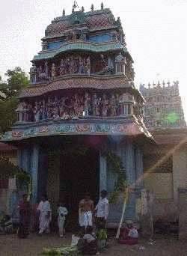
[[[153,141],[144,124],[132,116],[129,118],[78,119],[70,121],[42,121],[35,124],[22,124],[5,132],[1,141],[22,141],[28,138],[52,135],[125,135],[144,136]]]

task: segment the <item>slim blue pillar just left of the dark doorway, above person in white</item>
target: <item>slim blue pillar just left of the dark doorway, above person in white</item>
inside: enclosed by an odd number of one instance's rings
[[[32,202],[37,203],[37,186],[38,186],[38,162],[39,146],[34,144],[31,149],[31,178],[32,178]]]

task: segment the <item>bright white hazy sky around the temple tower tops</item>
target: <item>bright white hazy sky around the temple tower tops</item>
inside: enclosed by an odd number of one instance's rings
[[[2,1],[2,0],[1,0]],[[102,0],[77,0],[85,11],[100,9]],[[187,120],[187,1],[103,0],[120,16],[127,48],[134,60],[135,85],[179,80]],[[70,14],[73,0],[6,0],[0,8],[0,75],[22,67],[41,49],[46,26],[63,9]]]

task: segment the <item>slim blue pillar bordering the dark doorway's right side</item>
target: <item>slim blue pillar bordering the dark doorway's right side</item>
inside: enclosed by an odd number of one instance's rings
[[[99,153],[99,191],[107,189],[107,162],[106,157]]]

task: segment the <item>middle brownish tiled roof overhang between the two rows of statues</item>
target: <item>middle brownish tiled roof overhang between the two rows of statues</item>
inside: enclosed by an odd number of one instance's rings
[[[19,98],[40,97],[43,94],[52,91],[67,90],[67,89],[95,89],[95,90],[111,90],[111,89],[134,89],[138,96],[144,101],[138,90],[135,89],[133,83],[129,82],[125,76],[85,76],[80,74],[62,76],[48,83],[40,83],[38,85],[30,85],[22,90]]]

